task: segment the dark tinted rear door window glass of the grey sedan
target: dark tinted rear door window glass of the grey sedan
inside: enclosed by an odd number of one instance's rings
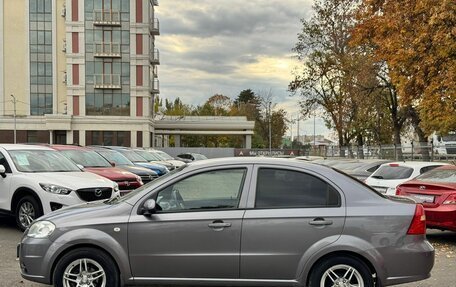
[[[320,178],[286,169],[258,170],[256,208],[338,206],[339,193]]]

